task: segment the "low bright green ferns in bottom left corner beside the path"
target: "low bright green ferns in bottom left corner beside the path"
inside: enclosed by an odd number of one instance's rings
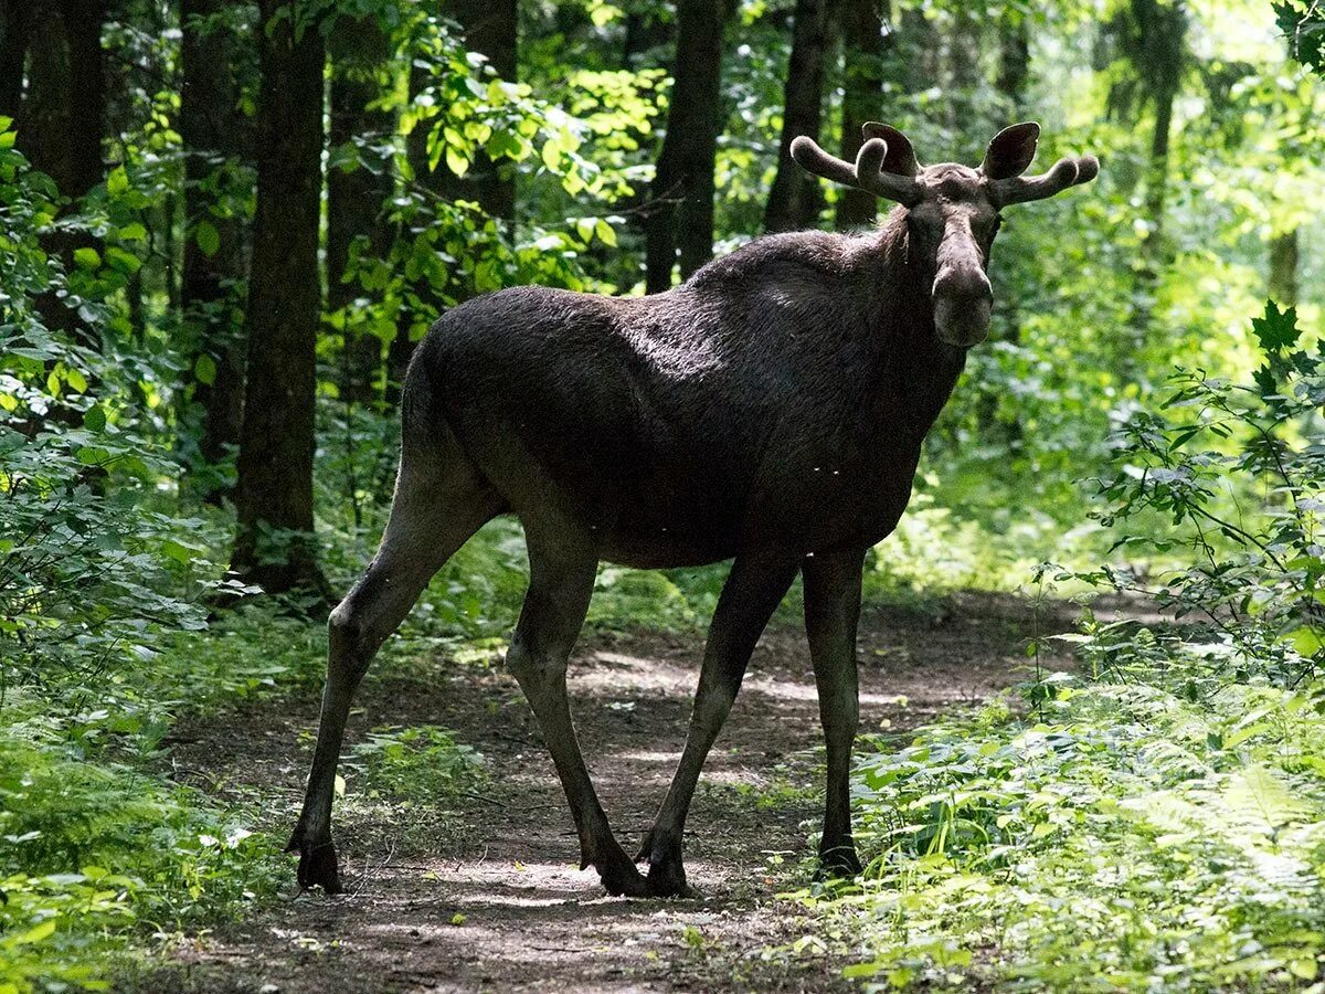
[[[106,990],[131,937],[274,892],[256,811],[81,751],[36,716],[0,736],[0,990]]]

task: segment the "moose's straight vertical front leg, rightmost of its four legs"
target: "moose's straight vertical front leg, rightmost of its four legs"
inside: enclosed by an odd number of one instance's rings
[[[864,550],[807,557],[802,566],[806,635],[819,688],[819,717],[828,751],[820,872],[855,876],[860,859],[851,838],[851,747],[860,724],[856,676],[856,624],[860,620],[860,573]]]

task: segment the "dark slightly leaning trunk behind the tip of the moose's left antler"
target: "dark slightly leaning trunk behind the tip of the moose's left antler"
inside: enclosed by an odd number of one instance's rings
[[[778,174],[768,191],[765,231],[798,231],[811,227],[823,209],[823,190],[791,159],[796,135],[819,140],[824,89],[824,58],[828,53],[828,0],[796,0],[791,32],[791,60],[782,101],[782,142]]]

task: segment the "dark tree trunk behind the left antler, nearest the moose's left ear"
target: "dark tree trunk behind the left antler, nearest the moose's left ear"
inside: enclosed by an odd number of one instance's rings
[[[890,7],[885,0],[881,12],[877,0],[841,0],[844,82],[839,151],[847,162],[855,162],[860,151],[864,140],[861,126],[877,119],[882,111],[885,73],[892,69],[896,74],[897,32],[890,20]],[[878,220],[878,197],[856,187],[840,188],[835,220],[839,231],[874,224]]]

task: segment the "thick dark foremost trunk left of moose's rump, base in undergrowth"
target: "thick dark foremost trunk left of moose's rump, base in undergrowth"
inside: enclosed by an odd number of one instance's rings
[[[313,538],[321,305],[322,36],[261,0],[257,213],[232,569],[269,592],[325,591]]]

